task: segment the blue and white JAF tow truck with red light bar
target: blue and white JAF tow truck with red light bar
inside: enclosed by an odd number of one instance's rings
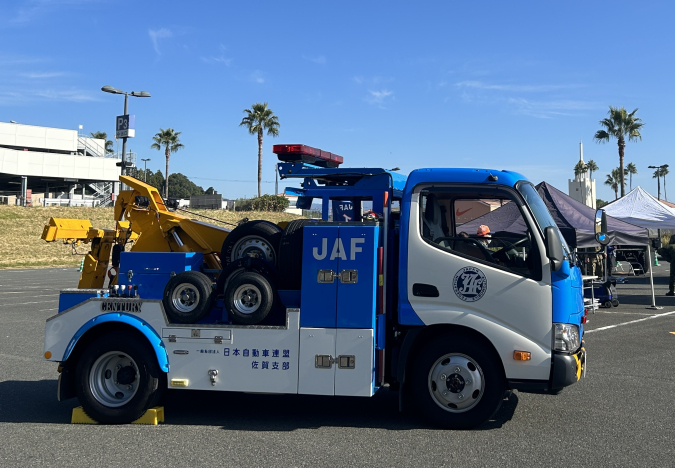
[[[581,274],[525,177],[405,177],[340,168],[304,145],[274,151],[279,175],[302,180],[298,207],[320,202],[322,219],[235,228],[221,270],[202,253],[122,252],[114,288],[63,291],[44,345],[59,400],[114,424],[167,388],[369,397],[387,386],[401,407],[470,428],[508,390],[557,393],[584,375]],[[507,203],[524,231],[463,229]]]

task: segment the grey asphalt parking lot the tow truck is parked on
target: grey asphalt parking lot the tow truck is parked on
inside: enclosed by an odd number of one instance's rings
[[[1,466],[672,466],[675,298],[669,264],[589,315],[588,373],[560,395],[514,392],[473,431],[428,427],[370,399],[172,392],[159,426],[71,425],[42,359],[44,321],[74,269],[0,271]],[[671,333],[673,332],[673,333]]]

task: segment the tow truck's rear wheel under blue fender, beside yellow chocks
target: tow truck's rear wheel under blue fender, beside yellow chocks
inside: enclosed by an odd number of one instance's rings
[[[92,342],[76,370],[77,398],[84,412],[104,424],[128,424],[162,397],[162,371],[149,344],[129,332]]]

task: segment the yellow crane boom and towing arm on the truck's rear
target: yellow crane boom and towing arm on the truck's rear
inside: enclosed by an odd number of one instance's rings
[[[115,202],[115,229],[96,229],[83,219],[51,218],[42,233],[47,242],[91,244],[78,288],[103,288],[111,252],[115,269],[119,264],[115,264],[114,250],[129,242],[133,242],[131,251],[201,252],[209,268],[222,268],[219,254],[229,229],[169,211],[159,191],[140,180],[120,176],[120,181],[131,190],[121,191]],[[111,285],[117,282],[115,275],[111,275]]]

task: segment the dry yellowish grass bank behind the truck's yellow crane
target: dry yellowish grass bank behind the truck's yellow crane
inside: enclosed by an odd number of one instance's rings
[[[268,213],[256,211],[223,211],[194,210],[209,218],[237,223],[242,218],[265,219],[273,223],[290,221],[298,218],[288,213]],[[194,217],[205,222],[219,225],[217,222],[181,213],[186,217]],[[112,208],[85,207],[20,207],[0,205],[0,268],[44,268],[54,266],[79,266],[83,255],[73,255],[70,245],[60,242],[45,242],[42,236],[44,226],[49,218],[88,219],[96,228],[112,229],[115,227]],[[222,226],[222,225],[221,225]],[[230,229],[233,226],[225,226]],[[88,245],[81,245],[78,251],[89,252]]]

